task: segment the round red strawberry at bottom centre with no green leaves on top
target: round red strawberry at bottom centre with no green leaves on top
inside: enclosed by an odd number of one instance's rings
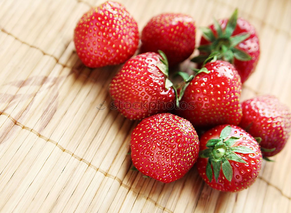
[[[131,140],[133,165],[144,175],[169,183],[183,177],[199,153],[198,135],[189,121],[171,113],[143,119]]]

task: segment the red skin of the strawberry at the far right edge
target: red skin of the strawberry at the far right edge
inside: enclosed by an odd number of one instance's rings
[[[276,148],[262,152],[264,156],[278,154],[285,146],[291,131],[290,109],[275,96],[264,95],[242,103],[242,120],[239,124],[254,137],[262,138],[260,146]]]

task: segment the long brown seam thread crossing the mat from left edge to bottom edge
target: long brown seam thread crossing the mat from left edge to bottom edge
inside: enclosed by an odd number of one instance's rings
[[[65,153],[68,153],[70,154],[72,157],[74,157],[75,159],[79,160],[79,161],[82,161],[84,163],[86,163],[88,165],[88,167],[91,167],[93,168],[95,171],[97,172],[100,172],[102,173],[105,177],[109,177],[109,178],[112,178],[114,180],[116,180],[120,186],[123,186],[124,188],[128,189],[129,191],[133,191],[135,193],[137,193],[138,191],[131,188],[130,186],[122,183],[122,180],[118,177],[115,177],[111,174],[108,174],[106,171],[100,169],[100,168],[97,168],[96,166],[92,165],[89,161],[77,156],[76,154],[74,154],[73,152],[69,151],[68,149],[65,149],[63,148],[61,145],[59,145],[56,141],[52,140],[52,139],[49,139],[47,137],[45,137],[44,135],[41,135],[40,133],[38,133],[36,130],[30,128],[30,127],[27,127],[27,126],[24,126],[23,124],[19,123],[15,118],[11,117],[8,113],[6,112],[0,112],[0,115],[5,115],[6,117],[8,117],[15,125],[17,126],[20,126],[21,128],[25,129],[25,130],[28,130],[32,133],[34,133],[35,135],[37,135],[39,138],[42,138],[44,139],[45,141],[48,141],[48,142],[51,142],[53,143],[54,145],[56,145],[56,147],[58,147],[59,149],[61,149],[62,152],[65,152]],[[157,206],[158,208],[162,209],[162,210],[165,210],[166,212],[169,212],[169,213],[173,213],[173,211],[167,209],[167,208],[164,208],[162,205],[160,205],[159,203],[157,203],[155,200],[153,200],[152,198],[149,198],[148,196],[145,196],[143,194],[139,194],[141,197],[149,200],[150,202],[154,203],[155,206]]]

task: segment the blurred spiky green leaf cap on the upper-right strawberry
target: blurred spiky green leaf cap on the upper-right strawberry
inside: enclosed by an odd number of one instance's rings
[[[210,54],[216,52],[216,58],[223,61],[229,61],[233,63],[234,59],[240,61],[249,61],[252,57],[246,52],[239,50],[236,46],[242,41],[249,38],[250,34],[241,33],[235,36],[232,36],[233,31],[235,30],[237,24],[237,9],[234,11],[232,16],[229,18],[226,28],[223,30],[221,25],[216,19],[214,19],[214,28],[217,32],[217,35],[214,35],[212,30],[207,27],[200,28],[203,37],[210,42],[207,45],[200,45],[198,50],[202,52],[201,55],[194,57],[191,61],[196,63],[201,63],[205,61]]]

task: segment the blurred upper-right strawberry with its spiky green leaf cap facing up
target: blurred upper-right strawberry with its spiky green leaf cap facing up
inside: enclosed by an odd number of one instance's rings
[[[260,55],[259,38],[253,25],[237,18],[235,10],[230,19],[215,20],[214,24],[202,30],[203,37],[198,47],[202,56],[193,61],[203,61],[208,54],[218,51],[218,59],[234,64],[244,83],[255,71]]]

